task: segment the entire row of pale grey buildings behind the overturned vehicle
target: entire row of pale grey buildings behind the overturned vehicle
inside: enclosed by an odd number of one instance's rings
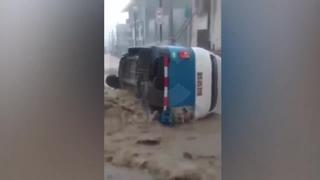
[[[129,15],[129,46],[221,50],[221,0],[131,0],[123,11]]]

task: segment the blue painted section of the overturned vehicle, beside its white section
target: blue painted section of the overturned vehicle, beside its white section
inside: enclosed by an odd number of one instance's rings
[[[191,48],[169,47],[169,106],[195,105],[195,54]],[[187,50],[190,58],[181,60],[179,52]]]

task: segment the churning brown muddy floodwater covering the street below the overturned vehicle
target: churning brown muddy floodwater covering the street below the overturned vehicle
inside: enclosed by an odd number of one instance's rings
[[[221,179],[220,117],[212,115],[173,128],[151,119],[134,96],[106,87],[105,179],[108,170],[122,179],[136,175],[149,180],[148,174],[156,180]],[[112,175],[109,179],[113,180]]]

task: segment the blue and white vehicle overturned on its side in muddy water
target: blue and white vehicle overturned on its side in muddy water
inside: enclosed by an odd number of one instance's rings
[[[106,83],[135,92],[165,125],[221,114],[221,58],[202,48],[129,48]]]

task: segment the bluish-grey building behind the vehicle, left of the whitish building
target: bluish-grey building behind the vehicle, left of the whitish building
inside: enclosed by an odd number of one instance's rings
[[[190,0],[132,0],[124,11],[129,14],[134,45],[190,45],[187,26],[190,3]]]

